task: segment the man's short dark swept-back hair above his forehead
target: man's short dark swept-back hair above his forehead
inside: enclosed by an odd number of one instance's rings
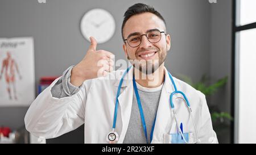
[[[160,19],[163,20],[164,24],[166,25],[166,20],[164,20],[163,16],[158,11],[156,11],[154,9],[154,7],[145,5],[143,3],[137,3],[133,6],[130,6],[126,10],[125,15],[123,15],[124,18],[123,18],[123,24],[122,24],[122,38],[123,38],[123,27],[125,27],[125,23],[127,22],[127,20],[130,19],[131,16],[142,14],[144,12],[150,12],[150,13],[158,16]]]

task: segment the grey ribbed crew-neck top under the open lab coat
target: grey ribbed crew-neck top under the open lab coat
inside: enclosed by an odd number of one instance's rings
[[[142,87],[137,82],[136,82],[136,85],[138,87],[138,94],[139,94],[139,98],[141,99],[141,106],[144,114],[144,119],[146,122],[147,140],[148,140],[148,143],[150,143],[150,135],[151,135],[150,133],[151,133],[152,125],[155,120],[156,112],[158,111],[158,104],[159,104],[163,85],[153,89]],[[131,106],[130,122],[125,135],[125,139],[123,140],[123,143],[127,143],[127,144],[147,143],[143,125],[142,125],[141,114],[139,113],[137,98],[135,96],[134,91],[133,91],[133,105]]]

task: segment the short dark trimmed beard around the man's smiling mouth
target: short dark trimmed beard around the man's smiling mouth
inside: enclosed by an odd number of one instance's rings
[[[163,64],[166,60],[167,51],[160,52],[158,49],[155,55],[158,54],[159,60],[133,60],[132,58],[127,55],[128,60],[133,64],[134,68],[139,69],[140,72],[148,75],[155,73],[158,70],[159,66]]]

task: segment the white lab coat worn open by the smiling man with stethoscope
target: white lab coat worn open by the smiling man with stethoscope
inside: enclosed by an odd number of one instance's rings
[[[160,96],[152,143],[170,143],[171,134],[177,133],[177,125],[170,106],[170,94],[174,91],[174,87],[167,70],[164,69],[164,71],[166,77]],[[52,97],[51,94],[52,86],[59,79],[57,78],[32,102],[24,118],[26,129],[34,136],[50,139],[72,131],[85,123],[85,143],[107,143],[106,135],[112,131],[115,98],[123,72],[125,70],[118,70],[107,77],[87,80],[77,94],[60,99]],[[133,69],[130,69],[123,79],[121,93],[118,97],[116,123],[116,131],[119,134],[118,143],[123,142],[129,125],[134,91],[132,78]],[[205,95],[177,78],[174,78],[174,82],[177,90],[183,91],[191,104],[201,143],[218,143],[216,133],[212,128]],[[189,119],[185,103],[181,99],[176,99],[174,102],[177,119],[183,123],[184,133],[195,135],[192,119]]]

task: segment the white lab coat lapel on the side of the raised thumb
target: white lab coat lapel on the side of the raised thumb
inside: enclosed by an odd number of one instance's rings
[[[117,89],[120,80],[121,78],[115,82]],[[118,143],[123,143],[123,139],[125,139],[126,131],[130,122],[131,106],[133,103],[133,68],[131,68],[126,74],[125,78],[123,78],[121,93],[119,94],[118,101],[119,104],[116,129],[119,134]]]

